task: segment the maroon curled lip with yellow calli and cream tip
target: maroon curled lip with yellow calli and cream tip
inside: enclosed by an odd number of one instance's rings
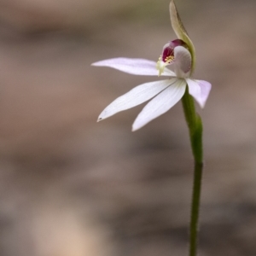
[[[156,69],[159,71],[159,76],[161,75],[161,73],[164,72],[165,67],[167,65],[170,65],[173,63],[174,48],[177,46],[183,46],[184,48],[188,49],[187,44],[180,39],[170,41],[169,43],[164,45],[162,54],[160,55],[160,58],[156,63]]]

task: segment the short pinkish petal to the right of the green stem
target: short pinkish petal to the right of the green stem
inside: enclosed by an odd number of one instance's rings
[[[189,94],[193,96],[201,108],[204,108],[209,96],[212,84],[203,80],[186,79],[189,85]]]

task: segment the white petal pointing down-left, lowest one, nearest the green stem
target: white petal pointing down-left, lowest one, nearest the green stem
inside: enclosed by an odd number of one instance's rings
[[[177,79],[171,86],[160,92],[158,96],[143,108],[137,119],[132,125],[132,131],[136,131],[148,124],[151,120],[166,113],[172,108],[184,95],[186,90],[186,82],[183,79]]]

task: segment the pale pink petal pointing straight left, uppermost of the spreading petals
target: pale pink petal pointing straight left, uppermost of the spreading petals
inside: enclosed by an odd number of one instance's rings
[[[156,62],[145,59],[129,59],[129,58],[115,58],[104,61],[98,61],[91,64],[98,67],[113,67],[125,73],[145,76],[157,76],[158,70],[156,69]],[[162,73],[163,76],[175,76],[168,68]]]

